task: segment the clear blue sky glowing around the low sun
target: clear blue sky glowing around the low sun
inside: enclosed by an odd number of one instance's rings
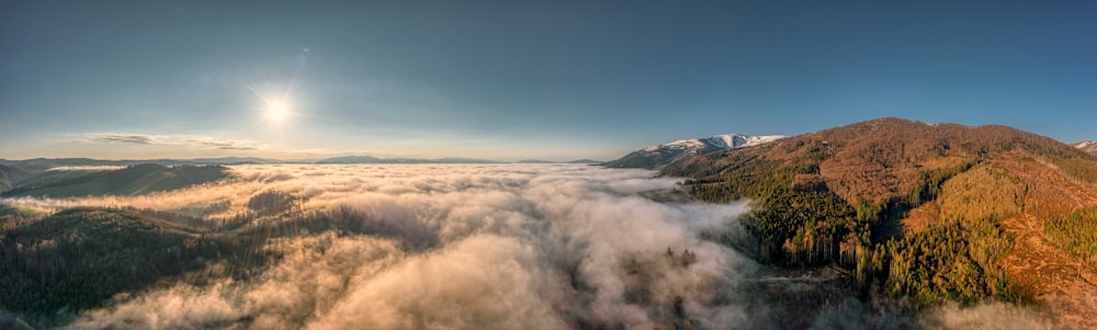
[[[276,2],[0,0],[0,158],[612,159],[882,116],[1097,139],[1097,1]]]

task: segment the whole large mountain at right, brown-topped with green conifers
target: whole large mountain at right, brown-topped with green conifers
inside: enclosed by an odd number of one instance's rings
[[[1089,327],[1097,157],[1005,126],[873,120],[692,157],[664,170],[705,201],[749,198],[753,239],[787,266],[840,265],[919,304],[1034,299]],[[750,243],[753,241],[753,243]]]

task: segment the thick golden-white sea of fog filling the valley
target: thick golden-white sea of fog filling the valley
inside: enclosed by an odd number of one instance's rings
[[[227,181],[147,196],[9,202],[160,210],[227,205],[205,215],[216,220],[276,190],[303,197],[305,210],[349,208],[402,231],[271,240],[267,248],[284,257],[259,275],[180,281],[120,295],[111,306],[81,315],[75,328],[770,328],[783,312],[801,311],[766,299],[818,289],[811,281],[759,289],[759,278],[773,276],[772,270],[702,239],[705,231],[740,230],[738,216],[748,204],[660,197],[685,193],[680,180],[653,171],[573,164],[269,164],[231,171]],[[811,307],[817,310],[807,325],[912,326],[886,311],[866,312],[862,304],[827,298]],[[1004,308],[945,308],[916,323],[962,327],[1016,315]]]

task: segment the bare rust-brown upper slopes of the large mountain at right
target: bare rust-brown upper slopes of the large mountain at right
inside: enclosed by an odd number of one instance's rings
[[[703,155],[666,172],[719,175],[721,169],[733,167],[742,158],[811,162],[810,158],[822,157],[816,174],[828,189],[850,204],[861,200],[875,204],[905,197],[923,183],[924,175],[958,171],[1005,151],[1095,160],[1054,139],[1006,126],[928,125],[880,118],[754,148]]]

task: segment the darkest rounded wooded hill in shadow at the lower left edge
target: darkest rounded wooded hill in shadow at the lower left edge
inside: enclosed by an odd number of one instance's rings
[[[201,232],[132,212],[75,208],[4,232],[3,309],[49,315],[203,265]]]

